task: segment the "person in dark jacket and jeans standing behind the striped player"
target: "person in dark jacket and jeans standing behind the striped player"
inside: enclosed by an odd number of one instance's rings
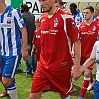
[[[27,4],[21,4],[20,10],[23,16],[23,20],[26,24],[26,29],[28,33],[28,54],[29,58],[26,60],[26,72],[27,74],[31,74],[32,71],[35,72],[36,70],[36,60],[35,60],[35,52],[31,55],[32,50],[32,38],[34,31],[36,29],[35,27],[35,16],[29,12],[29,7]]]

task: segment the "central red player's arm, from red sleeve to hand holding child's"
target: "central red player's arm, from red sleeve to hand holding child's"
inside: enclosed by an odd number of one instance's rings
[[[69,37],[71,38],[72,43],[74,44],[73,46],[75,53],[74,70],[71,72],[71,74],[74,77],[74,79],[77,80],[81,76],[80,72],[81,43],[76,23],[70,18],[67,19],[67,31]]]

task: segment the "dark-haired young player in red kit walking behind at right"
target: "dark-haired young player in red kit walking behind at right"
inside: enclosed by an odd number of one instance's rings
[[[99,26],[96,21],[93,21],[94,8],[87,6],[84,8],[84,22],[81,22],[78,29],[81,37],[81,62],[83,63],[90,57],[92,48],[98,40]],[[92,77],[94,63],[84,71],[84,80],[80,91],[79,99],[84,99],[86,91],[92,89],[94,80]]]

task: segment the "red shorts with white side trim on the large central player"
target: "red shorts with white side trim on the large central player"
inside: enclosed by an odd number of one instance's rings
[[[71,68],[64,71],[50,71],[40,68],[39,64],[32,80],[31,93],[43,90],[58,92],[62,96],[72,94]]]

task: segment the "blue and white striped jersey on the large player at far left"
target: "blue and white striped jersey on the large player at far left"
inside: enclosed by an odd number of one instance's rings
[[[0,31],[2,55],[15,56],[21,54],[20,28],[24,27],[20,11],[8,6],[0,15]]]

